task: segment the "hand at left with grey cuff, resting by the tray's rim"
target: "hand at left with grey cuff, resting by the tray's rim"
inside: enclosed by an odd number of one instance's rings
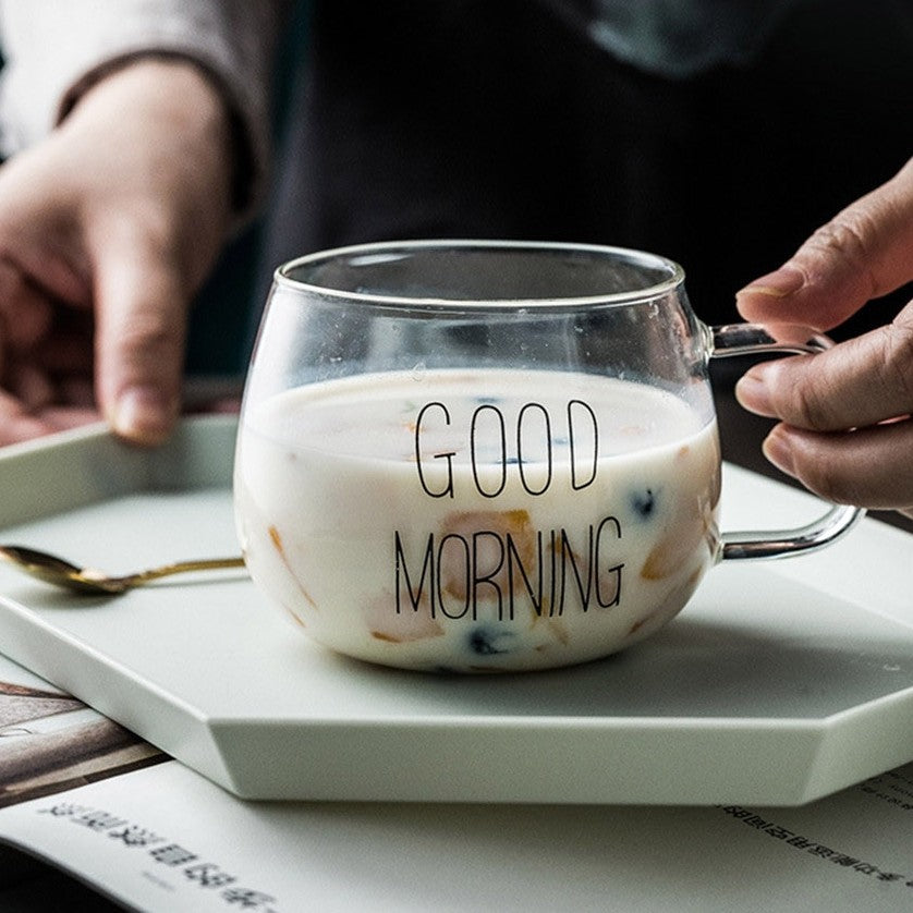
[[[136,443],[169,434],[231,156],[209,80],[142,59],[0,168],[0,445],[99,415]]]

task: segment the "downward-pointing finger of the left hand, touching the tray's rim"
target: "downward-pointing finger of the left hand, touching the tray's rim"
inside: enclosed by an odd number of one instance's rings
[[[181,271],[147,251],[109,251],[96,272],[96,392],[114,433],[163,441],[181,409],[188,293]]]

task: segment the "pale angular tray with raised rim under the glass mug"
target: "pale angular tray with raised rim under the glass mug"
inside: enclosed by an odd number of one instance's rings
[[[238,550],[231,419],[0,452],[0,541],[110,571]],[[729,527],[808,496],[725,467]],[[312,646],[243,573],[73,597],[0,568],[0,650],[256,799],[794,805],[913,758],[913,537],[714,569],[683,613],[574,669],[431,677]]]

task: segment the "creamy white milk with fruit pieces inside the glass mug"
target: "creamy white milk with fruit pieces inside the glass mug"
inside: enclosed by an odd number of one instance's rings
[[[716,423],[598,375],[440,370],[245,411],[235,502],[254,580],[314,640],[392,666],[605,656],[716,558]]]

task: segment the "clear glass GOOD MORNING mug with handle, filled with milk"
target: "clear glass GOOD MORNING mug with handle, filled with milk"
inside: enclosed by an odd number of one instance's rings
[[[244,391],[235,515],[255,583],[372,662],[545,669],[656,632],[720,560],[819,548],[860,511],[720,534],[708,362],[813,352],[708,328],[674,263],[428,241],[276,272]]]

